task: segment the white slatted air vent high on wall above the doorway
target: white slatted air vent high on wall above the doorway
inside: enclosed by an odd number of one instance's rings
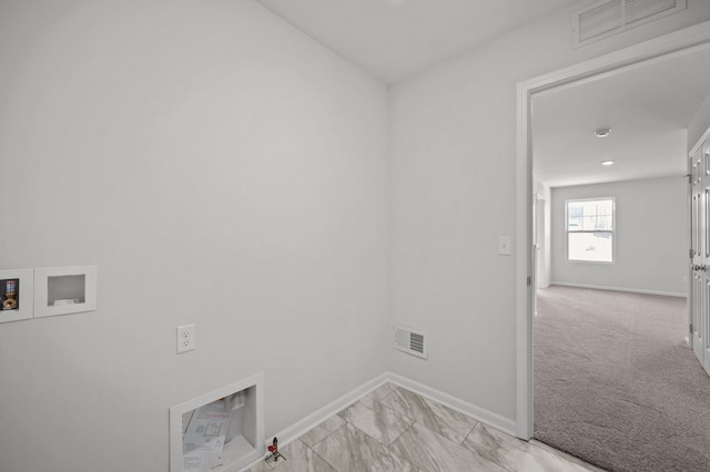
[[[687,7],[688,0],[604,0],[572,14],[572,43],[585,45]]]

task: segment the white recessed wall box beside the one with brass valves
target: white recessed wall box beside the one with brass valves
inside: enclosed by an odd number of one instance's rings
[[[34,317],[78,314],[95,309],[95,266],[34,269]]]

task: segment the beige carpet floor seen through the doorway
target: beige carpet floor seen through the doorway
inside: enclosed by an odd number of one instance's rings
[[[686,299],[538,290],[535,438],[610,471],[710,471],[710,378]]]

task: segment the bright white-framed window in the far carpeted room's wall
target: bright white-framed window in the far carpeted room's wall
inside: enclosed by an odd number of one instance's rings
[[[567,259],[613,261],[613,198],[568,199]]]

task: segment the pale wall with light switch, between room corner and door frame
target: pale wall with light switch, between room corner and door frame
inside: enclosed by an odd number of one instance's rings
[[[579,49],[562,11],[390,88],[390,311],[430,342],[428,361],[393,352],[390,370],[515,421],[515,257],[497,237],[525,237],[516,84],[710,19],[710,2],[688,3]]]

